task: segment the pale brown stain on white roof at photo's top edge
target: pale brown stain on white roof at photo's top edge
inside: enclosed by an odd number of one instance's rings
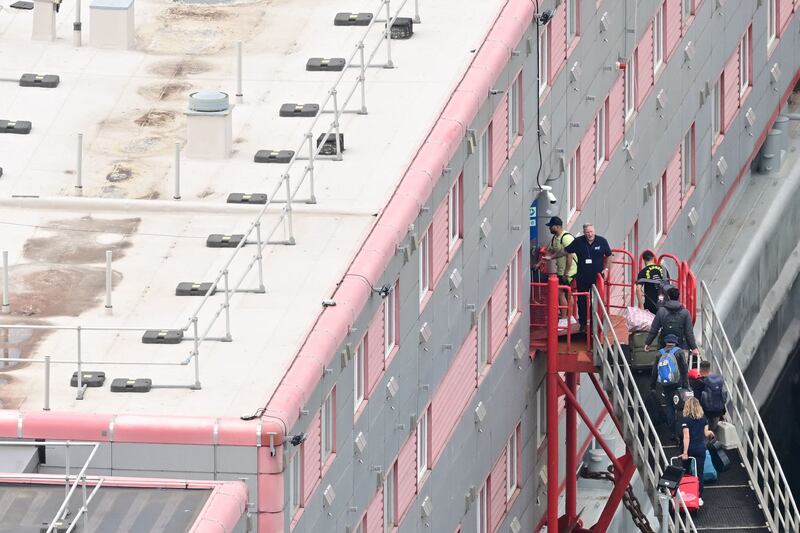
[[[153,54],[207,55],[257,35],[264,19],[262,0],[178,2],[137,27],[138,48]]]

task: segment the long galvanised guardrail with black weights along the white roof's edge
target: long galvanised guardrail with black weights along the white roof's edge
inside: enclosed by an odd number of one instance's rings
[[[399,1],[399,4],[398,4]],[[231,317],[230,317],[230,304],[231,300],[233,299],[234,295],[238,293],[264,293],[266,292],[266,288],[264,285],[264,273],[263,273],[263,252],[264,249],[268,245],[273,244],[285,244],[285,245],[293,245],[295,244],[295,237],[294,237],[294,228],[293,228],[293,221],[292,221],[292,203],[293,202],[304,202],[309,204],[316,203],[316,195],[314,192],[314,180],[315,180],[315,162],[317,160],[335,160],[339,161],[342,159],[342,151],[343,147],[340,144],[340,137],[339,134],[339,120],[342,114],[345,113],[357,113],[357,114],[366,114],[367,113],[367,103],[366,103],[366,72],[368,68],[394,68],[394,61],[392,60],[392,50],[391,50],[391,28],[394,24],[395,20],[399,16],[401,10],[406,6],[409,0],[379,0],[378,5],[375,8],[372,16],[372,20],[370,21],[369,25],[364,28],[363,34],[357,41],[353,51],[350,55],[345,59],[345,68],[339,73],[336,77],[335,81],[331,85],[331,88],[328,90],[327,96],[325,100],[319,106],[319,113],[317,116],[310,122],[310,125],[306,132],[303,135],[303,139],[297,146],[297,149],[294,151],[294,154],[287,164],[285,170],[281,174],[280,179],[272,188],[271,191],[267,193],[267,201],[262,207],[262,209],[258,212],[255,219],[253,219],[247,230],[244,233],[244,237],[241,241],[237,244],[236,248],[233,249],[231,252],[230,257],[225,262],[223,267],[220,269],[219,273],[214,277],[211,281],[210,288],[206,291],[203,295],[202,299],[198,303],[197,307],[194,309],[192,314],[186,320],[186,322],[181,327],[181,330],[184,332],[191,332],[191,336],[186,336],[183,340],[189,340],[193,342],[192,350],[189,353],[187,359],[184,359],[180,362],[130,362],[130,361],[95,361],[92,364],[135,364],[135,365],[167,365],[167,366],[186,366],[192,360],[194,360],[194,382],[189,385],[160,385],[161,387],[185,387],[190,389],[200,389],[202,388],[200,382],[200,370],[199,370],[199,358],[200,358],[200,346],[205,341],[222,341],[222,342],[230,342],[233,340],[233,336],[231,334]],[[397,5],[398,7],[393,8],[392,5]],[[384,18],[380,18],[383,15]],[[419,2],[418,0],[414,0],[414,21],[420,22],[419,18]],[[374,31],[374,28],[379,27],[379,34]],[[367,40],[371,36],[377,37],[374,43],[371,43],[371,48],[368,49]],[[385,63],[373,63],[377,54],[380,52],[382,48],[385,47],[386,50],[386,62]],[[358,62],[356,63],[356,58],[358,58]],[[358,74],[356,76],[348,76],[352,69],[357,69]],[[346,85],[347,82],[350,82],[350,85]],[[359,90],[360,89],[360,90]],[[343,99],[340,99],[340,92],[345,94]],[[359,94],[359,106],[357,109],[349,109],[348,106],[351,103],[352,99],[355,97],[356,93]],[[322,139],[315,144],[315,136],[314,131],[317,127],[319,127],[320,121],[323,115],[330,115],[332,114],[332,120],[327,126],[327,129],[322,134]],[[335,144],[335,154],[333,155],[322,155],[321,152],[323,151],[326,142],[333,137],[334,144]],[[302,155],[301,155],[302,154]],[[307,162],[302,168],[298,168],[299,165],[297,164],[298,161],[305,161]],[[292,174],[296,174],[294,178]],[[303,187],[303,185],[308,182],[308,197],[306,198],[299,198],[298,193]],[[282,194],[281,197],[278,197],[279,194]],[[277,220],[269,227],[265,234],[262,235],[262,222],[265,219],[265,215],[267,215],[267,210],[271,207],[275,207],[276,205],[281,205],[280,210],[277,212]],[[279,232],[280,229],[283,229],[283,238],[282,240],[274,240],[276,234]],[[242,248],[246,244],[253,245],[255,244],[256,248],[253,255],[250,257],[248,261],[243,265],[241,268],[241,273],[238,277],[234,277],[232,279],[232,270],[234,267],[234,263],[237,262],[237,259],[240,257],[240,252]],[[241,267],[242,265],[238,264],[237,267]],[[244,283],[247,281],[248,277],[251,275],[253,268],[257,266],[257,274],[258,274],[258,285],[255,288],[245,288],[243,287]],[[7,272],[7,268],[4,269],[4,273]],[[237,270],[237,274],[239,271]],[[5,274],[7,275],[7,274]],[[223,301],[211,312],[210,316],[206,316],[203,319],[203,327],[201,327],[201,313],[204,312],[209,300],[211,299],[212,295],[215,293],[222,292],[224,293]],[[7,291],[4,291],[4,298],[7,298]],[[4,303],[5,300],[4,300]],[[225,322],[225,334],[221,337],[212,337],[211,330],[216,325],[217,320],[224,316]],[[0,358],[0,361],[8,361],[8,362],[15,362],[19,361],[20,363],[41,363],[45,366],[45,381],[47,386],[45,387],[45,395],[47,397],[45,405],[46,409],[49,409],[49,372],[50,372],[50,365],[56,363],[69,363],[75,364],[78,368],[78,378],[82,380],[82,374],[80,369],[82,365],[88,364],[87,361],[83,361],[83,354],[81,349],[81,331],[145,331],[146,329],[155,329],[155,330],[163,330],[167,328],[125,328],[125,327],[89,327],[89,326],[49,326],[49,325],[26,325],[26,324],[0,324],[0,330],[2,328],[8,329],[43,329],[43,330],[76,330],[77,333],[77,358],[75,360],[51,360],[49,357],[45,357],[43,359],[16,359],[16,358]],[[154,384],[155,386],[155,384]],[[83,390],[85,387],[83,386],[82,381],[79,382],[78,387],[78,399],[82,399],[83,397]]]

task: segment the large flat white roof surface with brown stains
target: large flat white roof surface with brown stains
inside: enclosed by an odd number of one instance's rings
[[[369,114],[342,117],[343,161],[317,162],[318,203],[295,205],[297,244],[266,249],[266,293],[237,294],[232,300],[233,342],[201,346],[201,390],[111,393],[110,380],[119,377],[190,384],[193,367],[86,364],[85,370],[106,372],[107,382],[78,401],[67,386],[75,365],[55,364],[51,408],[239,416],[264,406],[503,4],[423,1],[422,23],[415,25],[413,38],[391,43],[397,68],[368,69]],[[244,233],[259,211],[226,204],[228,193],[271,191],[285,165],[255,164],[253,155],[259,149],[295,149],[310,124],[311,119],[278,117],[280,105],[321,103],[338,75],[306,72],[306,60],[347,57],[363,28],[335,27],[336,11],[363,12],[378,5],[140,0],[132,51],[89,45],[87,3],[79,48],[72,45],[74,4],[64,4],[57,15],[54,42],[31,40],[31,11],[0,10],[0,78],[26,72],[61,77],[56,89],[0,82],[0,120],[33,123],[29,135],[0,134],[0,248],[10,256],[12,304],[11,315],[0,321],[183,327],[200,298],[176,297],[176,285],[211,281],[232,253],[206,248],[206,237]],[[403,15],[413,15],[413,0]],[[182,200],[174,201],[173,149],[176,141],[185,141],[187,95],[203,89],[236,92],[238,40],[244,49],[244,99],[233,111],[234,153],[225,160],[184,157]],[[381,50],[374,61],[384,60]],[[357,74],[352,69],[346,79]],[[328,123],[323,117],[315,134]],[[80,197],[74,188],[78,132],[84,135]],[[279,207],[264,219],[265,232]],[[115,273],[110,314],[104,306],[107,249],[114,252]],[[239,254],[232,280],[254,250],[245,247]],[[253,271],[244,286],[256,285]],[[217,294],[204,307],[201,329],[223,300]],[[211,335],[223,333],[219,320]],[[10,331],[7,339],[0,338],[0,347],[6,357],[74,360],[76,337],[75,331],[44,336]],[[138,331],[87,331],[81,340],[83,359],[94,362],[176,362],[192,349],[188,341],[142,344]],[[40,409],[43,380],[39,364],[0,375],[3,407]]]

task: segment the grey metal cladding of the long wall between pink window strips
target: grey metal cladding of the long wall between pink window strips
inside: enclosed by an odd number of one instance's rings
[[[554,3],[553,0],[542,1],[541,8],[552,9]],[[638,5],[636,10],[634,3]],[[541,105],[542,115],[549,116],[552,123],[552,133],[549,138],[544,139],[545,144],[542,146],[542,181],[546,180],[553,185],[559,198],[564,198],[566,185],[563,173],[558,170],[558,157],[571,154],[577,147],[618,74],[613,68],[614,62],[630,55],[652,19],[656,5],[655,0],[605,0],[598,8],[595,0],[581,0],[582,36],[567,65],[579,61],[583,75],[578,83],[569,85],[568,68],[562,69]],[[599,21],[605,12],[608,12],[611,27],[601,34]],[[729,165],[727,174],[720,180],[712,171],[710,104],[700,104],[700,91],[706,81],[713,85],[714,80],[718,79],[725,62],[736,49],[748,21],[753,18],[754,87],[747,106],[753,107],[756,114],[757,123],[753,128],[756,133],[751,136],[744,129],[744,113],[740,112],[716,152],[715,160],[723,155]],[[628,21],[631,33],[625,31],[623,21]],[[533,31],[529,30],[529,35],[536,42]],[[651,247],[653,206],[652,200],[643,201],[642,189],[647,182],[660,179],[684,132],[696,121],[697,187],[688,207],[697,209],[699,222],[695,228],[688,228],[687,208],[679,215],[661,247],[662,251],[688,257],[700,237],[711,226],[714,212],[731,187],[738,169],[745,163],[745,157],[752,151],[758,133],[766,126],[779,94],[783,93],[790,82],[791,74],[798,68],[795,52],[797,22],[792,21],[769,63],[766,58],[765,33],[765,7],[756,9],[754,0],[729,0],[723,10],[718,10],[713,0],[702,3],[688,35],[678,43],[670,62],[635,118],[636,158],[628,162],[623,150],[618,148],[614,152],[594,193],[583,207],[579,223],[589,220],[595,222],[599,233],[606,235],[612,245],[619,245],[638,217],[640,247]],[[687,62],[683,56],[683,48],[689,40],[695,43],[696,54],[692,61]],[[524,65],[524,123],[527,133],[522,146],[513,154],[491,197],[480,210],[476,179],[477,157],[466,156],[464,143],[451,162],[451,178],[462,168],[464,170],[464,242],[445,270],[422,315],[419,312],[417,292],[418,257],[412,254],[406,262],[401,253],[395,255],[381,282],[391,283],[399,276],[399,352],[379,381],[366,412],[355,426],[352,367],[341,368],[341,365],[335,365],[333,372],[325,377],[309,401],[307,407],[313,414],[322,404],[324,395],[334,383],[337,384],[338,453],[321,484],[322,487],[331,484],[336,498],[331,508],[323,509],[321,491],[317,490],[310,498],[294,531],[343,531],[346,527],[353,526],[363,514],[378,487],[375,467],[385,469],[391,465],[400,446],[410,434],[410,416],[418,414],[430,401],[455,355],[456,348],[463,343],[471,328],[472,317],[467,304],[475,304],[479,308],[489,298],[502,274],[503,266],[507,264],[516,246],[527,239],[527,208],[536,192],[534,175],[538,166],[536,138],[532,135],[536,131],[536,54],[535,50],[533,54],[526,54],[524,45],[520,48],[522,53],[511,58],[504,83],[499,82],[498,88],[507,87],[510,73]],[[769,82],[769,67],[776,61],[781,64],[784,76],[776,84],[778,90],[773,91]],[[655,109],[655,94],[661,88],[665,89],[669,98],[668,108],[662,113],[663,117]],[[594,98],[587,98],[588,96]],[[477,131],[485,128],[498,102],[499,97],[490,98],[469,127]],[[508,177],[509,170],[515,165],[524,170],[525,176],[524,186],[520,185],[518,188],[510,186]],[[439,180],[427,205],[430,209],[420,214],[418,227],[424,228],[430,222],[435,207],[447,194],[449,183],[450,180],[446,178]],[[564,206],[561,214],[564,215],[565,211]],[[489,218],[493,228],[485,242],[486,246],[479,239],[479,225],[483,217]],[[521,230],[512,229],[517,224],[521,225]],[[527,266],[527,260],[525,264]],[[493,270],[491,265],[499,265],[499,268]],[[462,287],[456,291],[458,298],[455,298],[446,282],[454,267],[464,276]],[[524,270],[527,272],[528,269]],[[525,303],[524,300],[523,304]],[[357,331],[353,332],[347,342],[358,342],[379,305],[380,298],[373,296],[359,317]],[[428,351],[420,346],[418,334],[420,325],[425,321],[431,324],[434,331],[433,338],[427,345]],[[473,531],[475,505],[468,506],[465,503],[465,492],[470,486],[479,486],[483,482],[520,419],[524,485],[501,530],[508,529],[508,522],[514,516],[520,518],[524,531],[530,531],[539,521],[545,502],[540,499],[537,505],[537,495],[543,494],[539,485],[539,473],[544,464],[543,457],[537,455],[536,446],[536,412],[539,407],[536,404],[536,388],[544,377],[544,361],[542,358],[535,361],[516,361],[512,353],[513,345],[518,339],[522,338],[527,342],[526,321],[527,310],[524,306],[523,317],[516,328],[509,332],[509,339],[491,371],[482,382],[472,404],[467,407],[465,416],[422,487],[421,494],[401,523],[401,531],[453,531],[459,523],[463,524],[463,531]],[[452,345],[454,349],[447,349],[445,345]],[[385,384],[392,376],[398,380],[400,390],[392,400],[385,400]],[[587,387],[583,389],[586,390]],[[588,392],[582,391],[582,394],[588,404],[589,415],[598,416],[601,411],[599,402],[592,402],[592,395]],[[488,410],[481,431],[478,431],[472,416],[472,410],[478,401],[482,401]],[[290,433],[304,431],[310,418],[301,417]],[[404,427],[398,429],[399,425]],[[353,439],[359,431],[363,431],[367,437],[363,457],[355,457],[353,452]],[[585,434],[586,430],[582,427],[581,440]],[[426,495],[433,502],[429,527],[422,521],[419,509],[419,504]],[[287,530],[288,520],[287,516]]]

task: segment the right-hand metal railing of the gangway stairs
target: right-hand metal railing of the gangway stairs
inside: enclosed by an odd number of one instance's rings
[[[795,533],[800,531],[800,514],[791,487],[705,282],[701,283],[701,290],[703,354],[722,375],[728,388],[727,415],[739,433],[742,462],[771,531]]]

